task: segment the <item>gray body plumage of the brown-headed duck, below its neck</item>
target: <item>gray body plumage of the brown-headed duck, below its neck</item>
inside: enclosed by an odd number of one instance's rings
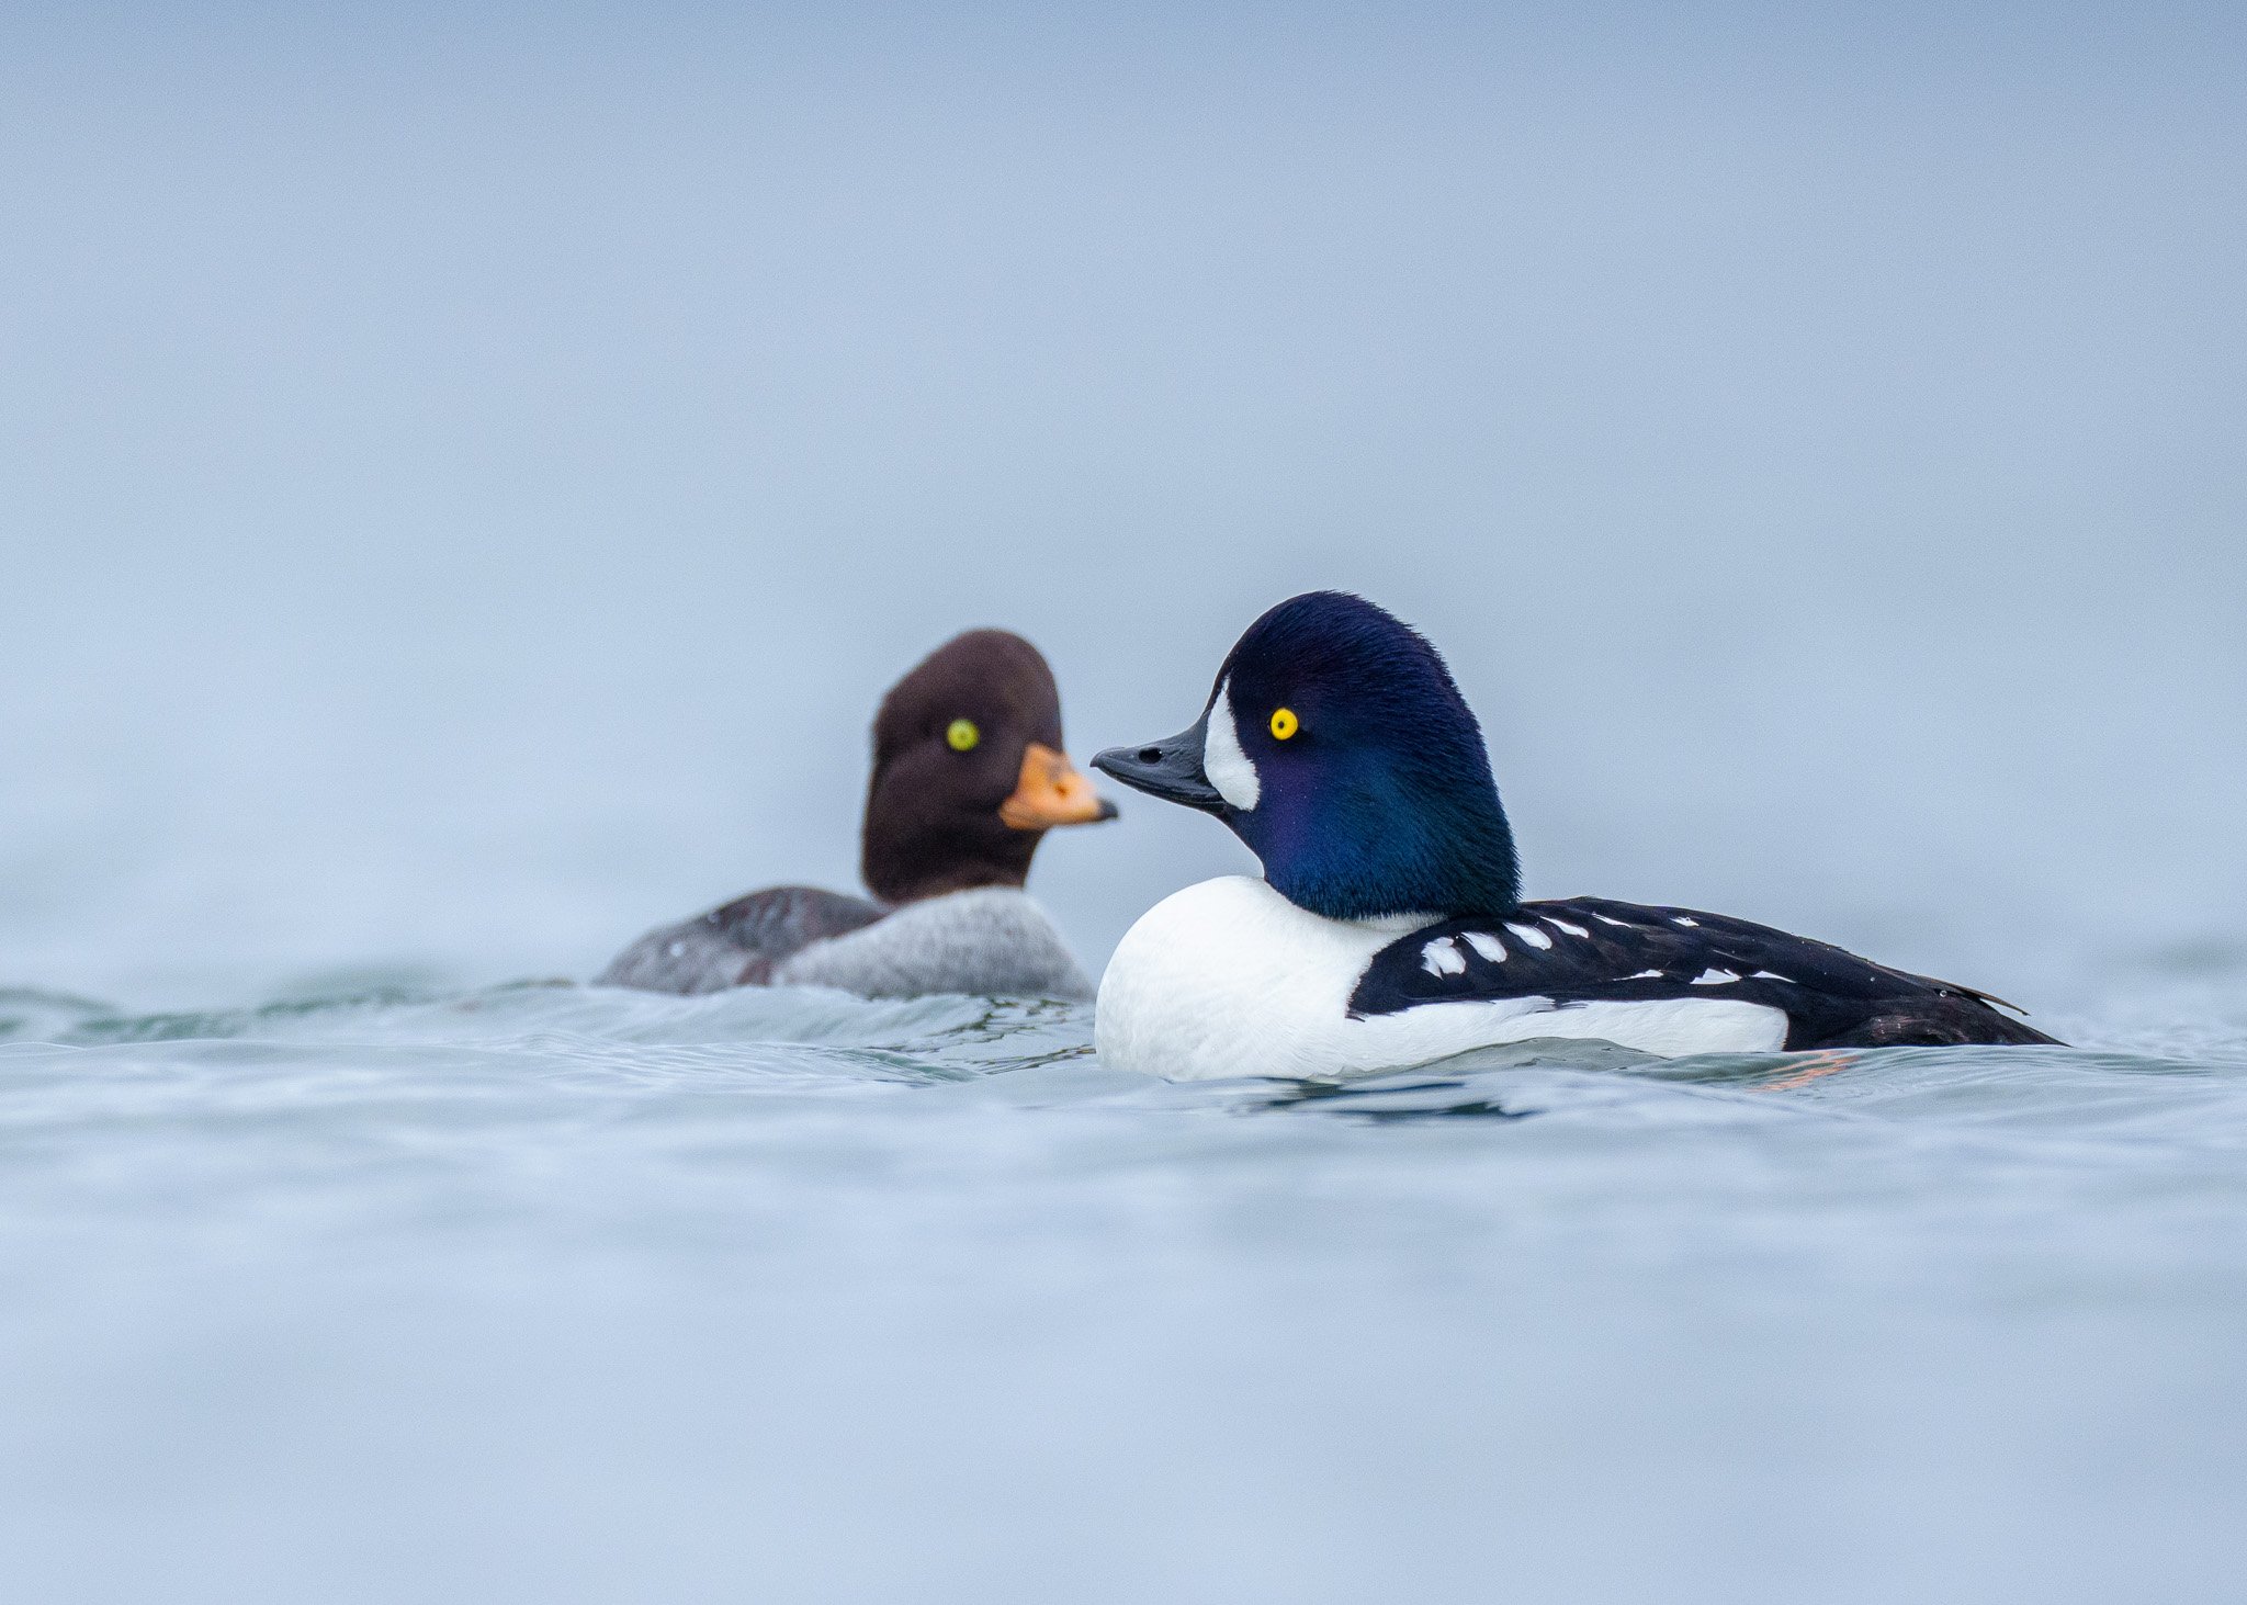
[[[870,998],[1092,996],[1092,980],[1045,910],[1007,886],[924,897],[894,910],[780,886],[649,931],[595,985],[679,994],[838,987]]]

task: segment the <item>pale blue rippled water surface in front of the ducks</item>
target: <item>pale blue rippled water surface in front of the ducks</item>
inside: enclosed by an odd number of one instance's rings
[[[45,1601],[2236,1598],[2222,994],[1346,1088],[1112,1072],[1061,1005],[11,994],[0,1553]]]

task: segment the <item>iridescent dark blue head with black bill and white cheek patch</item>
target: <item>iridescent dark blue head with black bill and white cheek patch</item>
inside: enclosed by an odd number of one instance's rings
[[[1359,596],[1281,602],[1227,654],[1191,728],[1092,767],[1216,814],[1274,890],[1330,919],[1521,897],[1474,713],[1436,647]]]

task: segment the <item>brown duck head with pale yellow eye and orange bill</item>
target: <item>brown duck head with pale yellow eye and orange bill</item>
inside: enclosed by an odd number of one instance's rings
[[[1020,886],[1047,829],[1115,814],[1061,746],[1038,647],[971,629],[881,699],[861,874],[885,904]]]

